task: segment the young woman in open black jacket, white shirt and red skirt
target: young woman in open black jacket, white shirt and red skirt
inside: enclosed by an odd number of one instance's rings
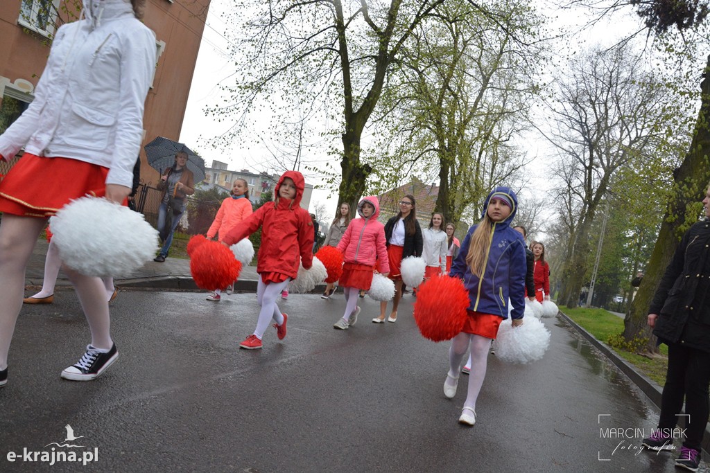
[[[392,300],[392,312],[388,322],[397,321],[397,309],[402,299],[402,260],[408,256],[422,255],[422,228],[417,222],[417,207],[414,196],[405,195],[399,201],[400,211],[385,223],[387,245],[388,277],[395,283],[395,296]],[[380,303],[380,316],[373,318],[374,323],[385,321],[387,303]]]

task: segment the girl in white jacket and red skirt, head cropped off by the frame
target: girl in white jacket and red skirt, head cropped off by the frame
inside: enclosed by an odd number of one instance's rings
[[[145,0],[84,0],[84,19],[62,25],[35,99],[0,135],[0,159],[21,160],[0,182],[0,386],[22,306],[25,267],[38,235],[62,206],[85,194],[126,204],[141,149],[143,106],[155,69]],[[82,242],[77,242],[77,245]],[[118,357],[104,284],[65,268],[91,343],[62,378],[87,381]]]

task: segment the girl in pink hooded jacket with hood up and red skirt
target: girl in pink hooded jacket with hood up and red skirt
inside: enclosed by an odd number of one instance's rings
[[[358,292],[367,291],[372,283],[372,275],[379,258],[381,270],[386,276],[390,271],[385,245],[385,226],[377,221],[380,203],[377,197],[364,197],[357,206],[362,218],[350,222],[343,238],[338,243],[338,250],[344,254],[343,274],[340,285],[345,293],[345,313],[333,325],[346,330],[355,325],[360,308],[357,306]]]

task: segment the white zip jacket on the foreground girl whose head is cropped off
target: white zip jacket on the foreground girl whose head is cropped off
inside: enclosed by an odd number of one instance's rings
[[[87,18],[59,28],[35,100],[0,135],[0,155],[70,157],[109,168],[131,187],[143,108],[155,69],[155,35],[127,0],[91,0]]]

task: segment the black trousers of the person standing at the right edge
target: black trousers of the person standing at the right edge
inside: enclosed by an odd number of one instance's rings
[[[674,428],[678,423],[685,399],[686,438],[684,447],[700,450],[705,425],[710,413],[710,353],[686,347],[682,343],[668,344],[668,371],[661,398],[659,428]]]

